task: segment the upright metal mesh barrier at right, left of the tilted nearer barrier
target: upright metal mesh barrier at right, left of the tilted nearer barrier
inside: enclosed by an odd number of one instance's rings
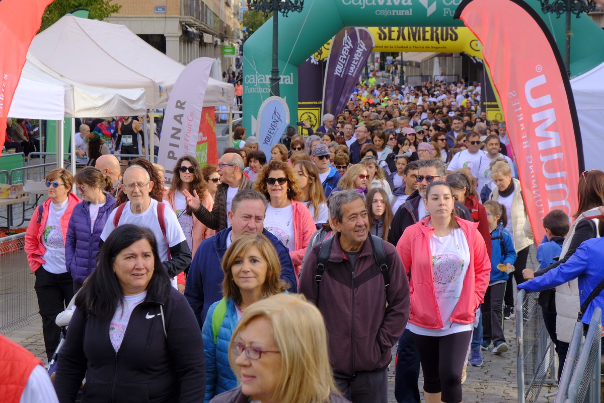
[[[533,403],[545,382],[555,383],[554,345],[545,328],[539,294],[520,290],[516,296],[518,403]]]

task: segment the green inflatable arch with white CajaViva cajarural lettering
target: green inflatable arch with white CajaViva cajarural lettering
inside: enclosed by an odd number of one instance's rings
[[[291,116],[298,115],[298,66],[346,26],[458,27],[453,15],[461,0],[305,0],[301,13],[279,21],[280,94]],[[543,15],[538,0],[527,0],[544,19],[564,54],[565,19]],[[585,14],[572,17],[571,72],[580,76],[604,61],[604,31]],[[510,21],[510,29],[515,27]],[[526,40],[530,41],[530,37]],[[513,52],[513,49],[510,49]],[[272,24],[266,22],[243,46],[243,126],[251,129],[263,100],[270,96]]]

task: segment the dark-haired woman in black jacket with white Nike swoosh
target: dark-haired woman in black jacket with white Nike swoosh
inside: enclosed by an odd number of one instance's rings
[[[198,402],[205,392],[204,344],[193,310],[170,286],[155,236],[121,225],[76,297],[54,387],[72,403]]]

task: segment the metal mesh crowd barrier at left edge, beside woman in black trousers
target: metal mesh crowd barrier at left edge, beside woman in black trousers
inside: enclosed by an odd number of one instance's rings
[[[35,277],[24,249],[25,234],[0,238],[0,334],[20,329],[40,319]]]

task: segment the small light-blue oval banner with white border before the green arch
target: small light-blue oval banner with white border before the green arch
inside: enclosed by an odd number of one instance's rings
[[[271,148],[281,140],[281,135],[288,127],[289,108],[283,98],[268,97],[258,111],[258,143],[259,149],[266,154],[266,160],[271,159]]]

